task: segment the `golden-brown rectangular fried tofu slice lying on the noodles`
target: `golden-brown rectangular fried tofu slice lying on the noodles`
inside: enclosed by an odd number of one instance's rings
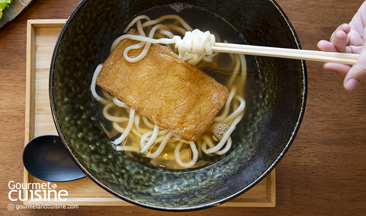
[[[224,106],[228,89],[160,44],[151,44],[142,60],[130,63],[123,51],[135,43],[120,41],[96,84],[175,137],[196,141]],[[131,50],[129,56],[141,50]]]

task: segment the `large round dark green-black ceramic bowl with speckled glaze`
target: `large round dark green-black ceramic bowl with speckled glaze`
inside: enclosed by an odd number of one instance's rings
[[[113,195],[162,210],[216,206],[264,179],[289,149],[304,113],[305,63],[257,56],[261,93],[255,118],[234,150],[198,169],[156,170],[116,152],[93,110],[89,85],[101,47],[131,17],[172,0],[85,0],[67,20],[50,69],[50,103],[58,132],[86,175]],[[270,0],[185,1],[228,21],[252,45],[300,48],[280,7]],[[220,5],[220,7],[218,7]]]

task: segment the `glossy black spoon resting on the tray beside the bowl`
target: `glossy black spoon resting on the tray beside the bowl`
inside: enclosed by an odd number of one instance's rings
[[[23,151],[23,164],[32,176],[44,181],[65,182],[85,177],[57,135],[30,140]]]

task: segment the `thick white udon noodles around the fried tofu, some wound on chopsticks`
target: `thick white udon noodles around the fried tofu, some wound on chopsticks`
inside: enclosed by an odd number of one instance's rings
[[[124,33],[132,27],[136,28],[139,35],[124,34],[115,39],[111,47],[112,51],[125,38],[141,41],[125,49],[124,58],[129,62],[140,61],[147,54],[151,43],[167,44],[179,57],[191,64],[197,64],[200,61],[211,62],[216,55],[211,49],[215,43],[215,36],[208,31],[193,30],[177,15],[166,15],[155,20],[145,15],[137,16]],[[179,35],[185,36],[182,39]],[[143,51],[139,55],[134,57],[128,55],[130,50],[142,47]],[[181,168],[201,165],[197,161],[202,154],[225,155],[232,147],[231,134],[242,119],[245,109],[243,88],[246,74],[239,73],[239,71],[246,71],[245,57],[239,54],[230,54],[230,56],[235,62],[233,72],[226,84],[230,95],[211,128],[195,143],[173,137],[171,131],[152,124],[146,117],[136,113],[133,108],[104,90],[102,90],[103,97],[99,96],[95,90],[96,79],[102,67],[102,64],[99,64],[93,74],[91,93],[96,101],[103,104],[103,116],[111,121],[114,130],[120,133],[112,141],[112,146],[117,151],[136,152],[151,159],[175,161]],[[162,165],[158,164],[158,166]]]

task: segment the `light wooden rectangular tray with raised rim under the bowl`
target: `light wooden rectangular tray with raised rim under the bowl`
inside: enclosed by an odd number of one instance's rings
[[[55,43],[65,21],[28,20],[25,145],[35,136],[58,134],[49,105],[48,76]],[[27,183],[47,182],[33,177],[24,169],[24,185]],[[72,182],[59,182],[56,184],[57,191],[68,191],[67,201],[33,201],[30,200],[30,194],[28,194],[28,199],[24,201],[24,204],[133,205],[103,190],[87,177]],[[25,195],[24,198],[26,197]],[[51,198],[50,200],[54,199]],[[246,193],[219,206],[274,207],[275,205],[276,184],[274,170]]]

